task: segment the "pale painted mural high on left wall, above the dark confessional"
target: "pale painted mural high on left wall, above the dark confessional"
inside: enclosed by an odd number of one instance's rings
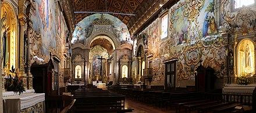
[[[33,30],[41,34],[42,53],[49,54],[49,49],[56,48],[56,15],[59,12],[51,0],[35,0],[35,7],[31,16]]]

